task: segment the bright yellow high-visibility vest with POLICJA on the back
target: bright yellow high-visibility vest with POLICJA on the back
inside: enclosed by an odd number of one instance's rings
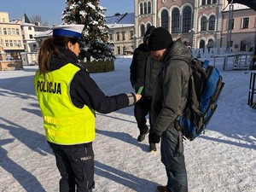
[[[58,70],[34,77],[34,86],[50,143],[73,145],[95,139],[95,112],[84,105],[77,108],[70,96],[70,84],[79,67],[69,63]]]

